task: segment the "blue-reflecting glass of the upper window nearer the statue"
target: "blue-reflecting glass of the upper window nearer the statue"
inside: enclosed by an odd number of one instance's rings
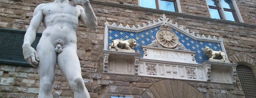
[[[140,0],[140,6],[171,12],[178,12],[176,0]]]

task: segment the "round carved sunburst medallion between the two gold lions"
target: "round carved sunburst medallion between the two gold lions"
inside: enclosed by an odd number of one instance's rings
[[[178,36],[168,29],[159,30],[156,39],[165,48],[175,48],[178,45]]]

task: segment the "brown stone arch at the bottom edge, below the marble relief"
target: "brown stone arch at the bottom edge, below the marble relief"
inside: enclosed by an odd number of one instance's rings
[[[150,86],[140,98],[205,98],[204,94],[186,82],[161,80]]]

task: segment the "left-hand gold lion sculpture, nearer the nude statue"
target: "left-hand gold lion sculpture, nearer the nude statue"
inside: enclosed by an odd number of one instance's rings
[[[132,48],[134,48],[137,45],[136,40],[131,38],[131,39],[127,39],[127,40],[120,40],[120,39],[115,39],[112,40],[112,43],[110,44],[110,50],[111,48],[115,48],[115,50],[117,51],[118,49],[127,49],[127,50],[133,50]]]

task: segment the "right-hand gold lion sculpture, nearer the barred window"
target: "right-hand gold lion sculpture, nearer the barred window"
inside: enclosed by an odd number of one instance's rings
[[[221,51],[214,51],[208,46],[204,48],[204,53],[206,56],[210,57],[209,59],[214,59],[215,57],[219,57],[221,60],[226,60],[226,54]]]

